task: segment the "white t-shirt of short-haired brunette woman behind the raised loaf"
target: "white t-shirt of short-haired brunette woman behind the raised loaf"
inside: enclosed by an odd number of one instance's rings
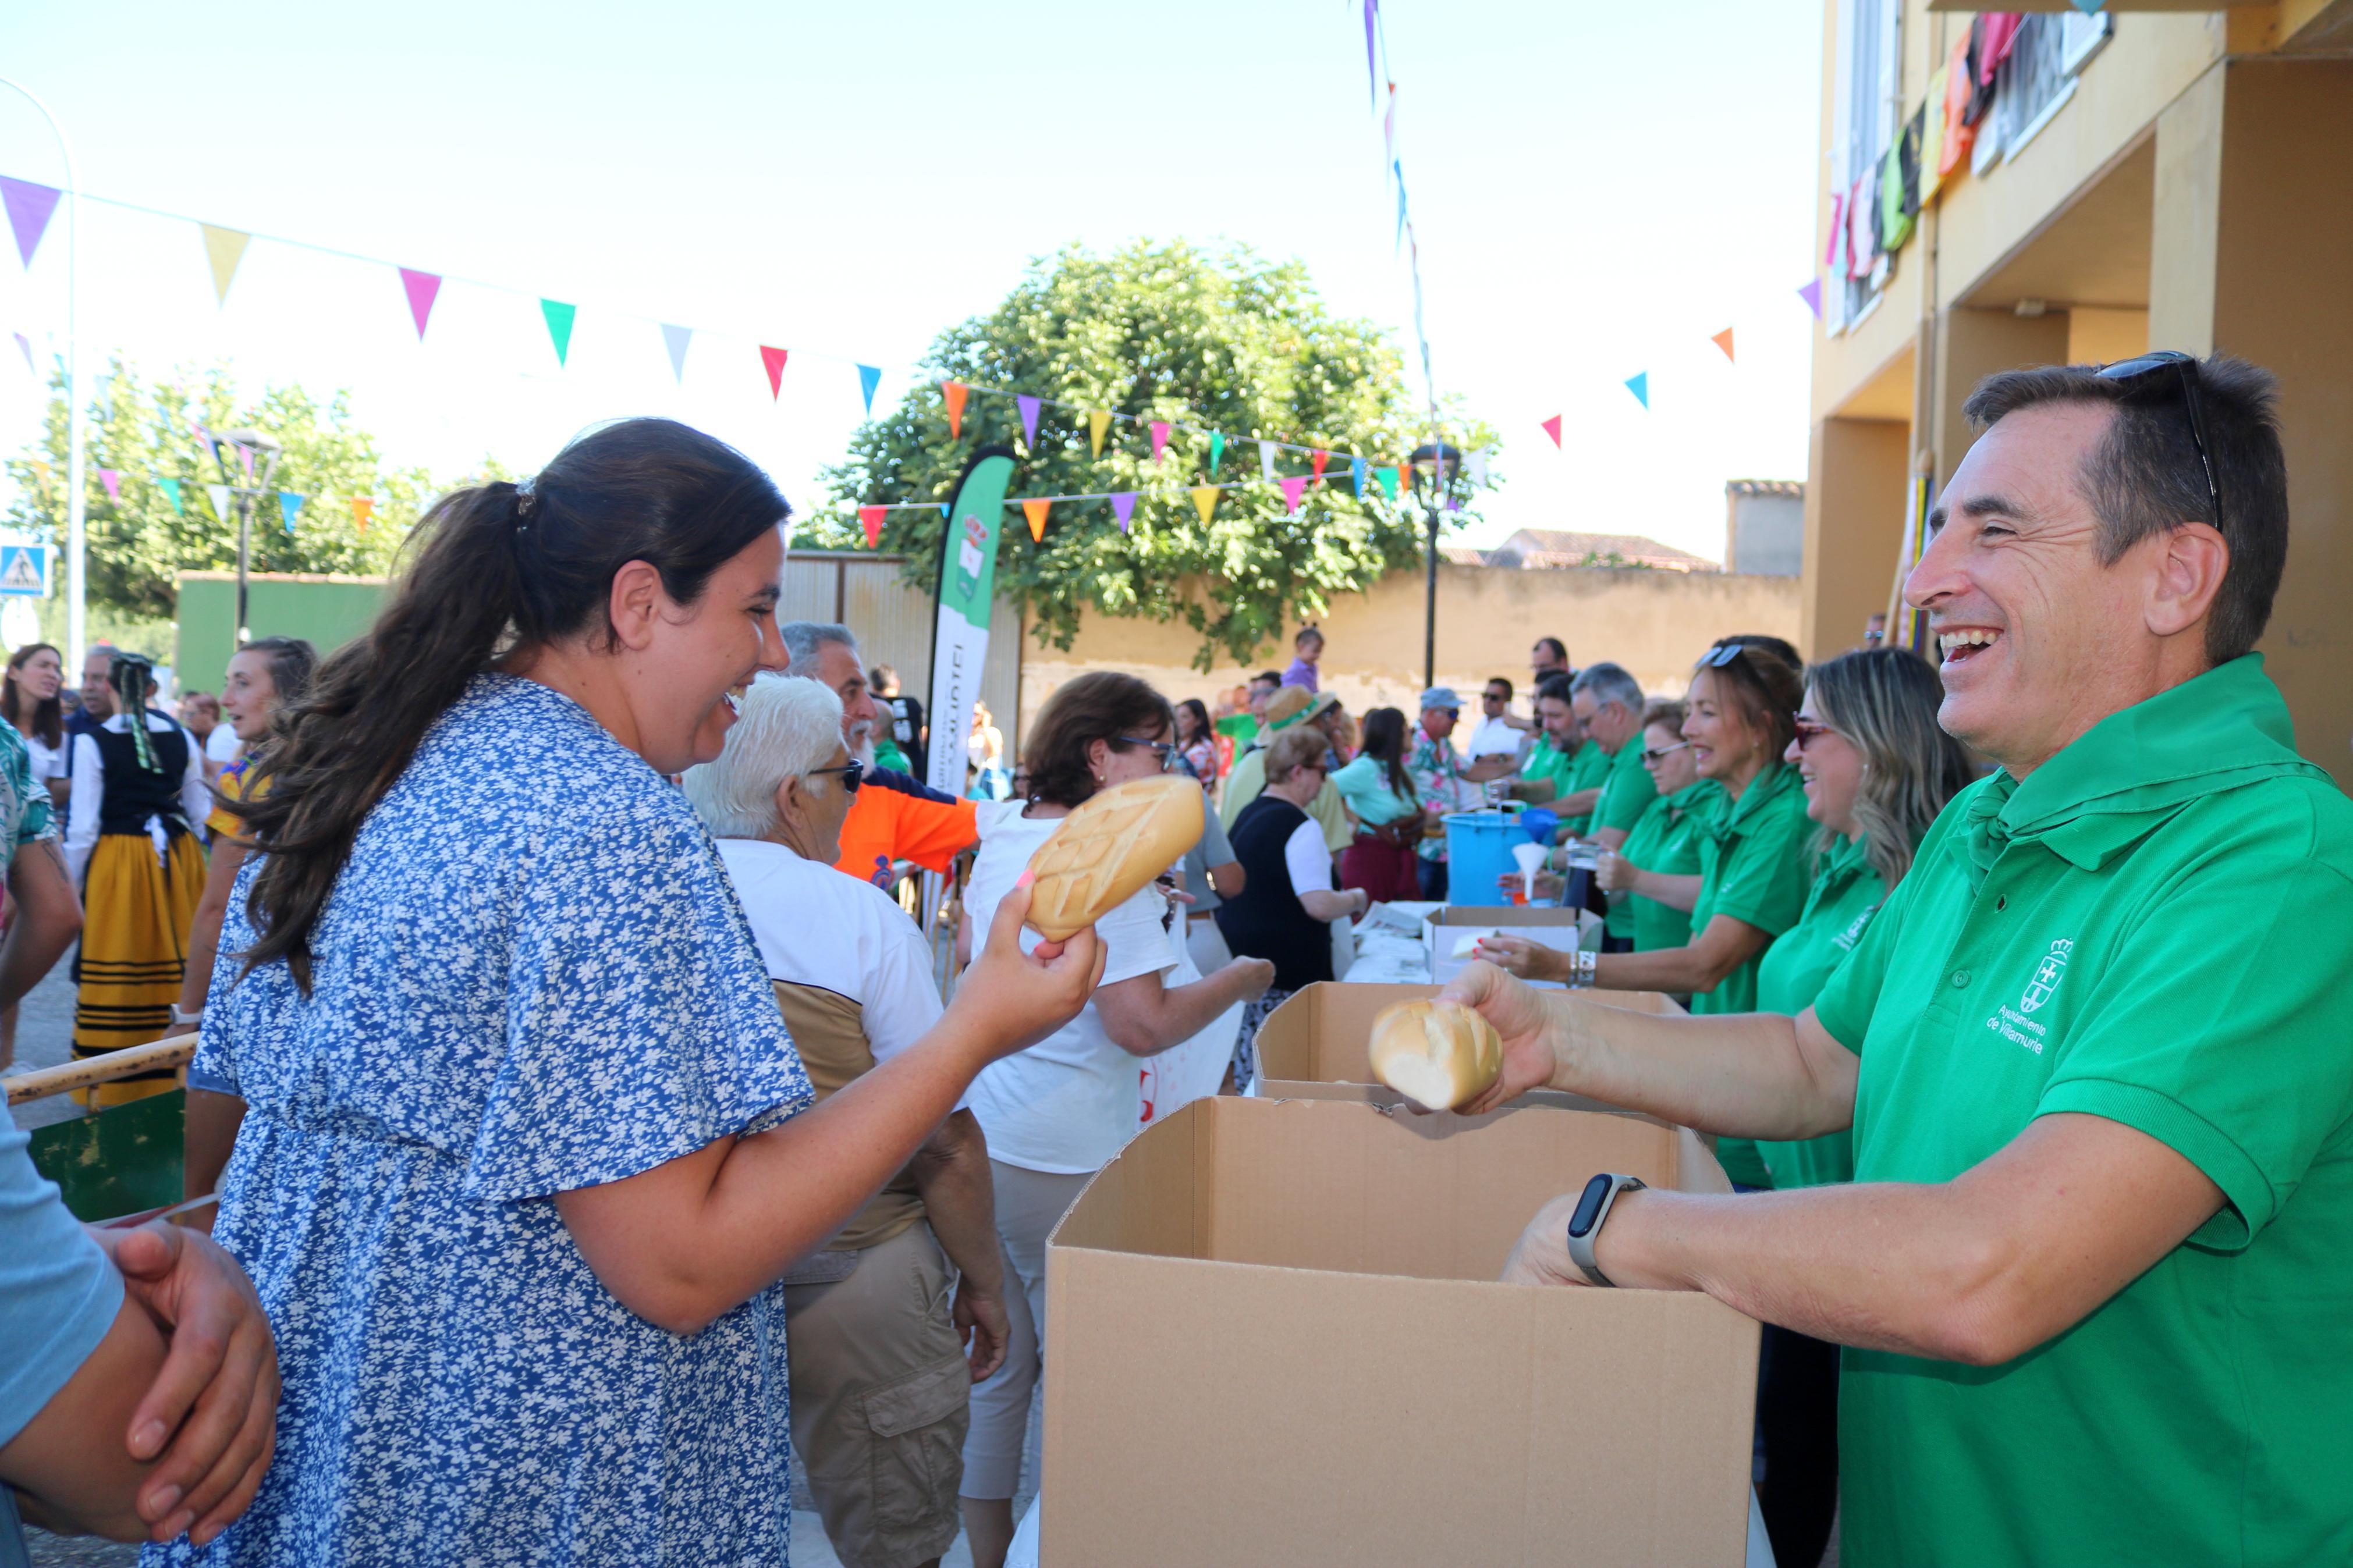
[[[998,903],[1028,870],[1031,856],[1054,837],[1064,818],[1021,816],[1021,802],[984,804],[979,811],[981,853],[965,886],[965,919],[976,922],[972,957],[988,943]],[[1104,985],[1160,973],[1162,985],[1176,969],[1179,936],[1169,933],[1169,903],[1155,886],[1094,922],[1101,938]],[[1045,940],[1021,929],[1021,950]],[[988,1157],[1024,1171],[1052,1175],[1092,1175],[1120,1152],[1139,1124],[1139,1060],[1115,1046],[1104,1030],[1094,1001],[1078,1018],[1028,1051],[1007,1056],[981,1070],[972,1081],[972,1114],[988,1133]]]

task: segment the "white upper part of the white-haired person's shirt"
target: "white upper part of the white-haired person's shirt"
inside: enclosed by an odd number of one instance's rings
[[[720,839],[718,846],[769,980],[856,1001],[878,1065],[939,1023],[932,954],[896,898],[784,844]]]

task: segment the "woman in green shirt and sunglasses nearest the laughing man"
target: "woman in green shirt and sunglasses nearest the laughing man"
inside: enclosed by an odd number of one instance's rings
[[[1937,726],[1944,684],[1911,649],[1842,654],[1814,665],[1784,762],[1805,783],[1817,870],[1805,914],[1758,964],[1758,1009],[1802,1013],[1861,940],[1913,846],[1977,769]],[[1854,1178],[1847,1131],[1751,1145],[1781,1192]],[[1765,1326],[1758,1361],[1758,1502],[1774,1561],[1819,1563],[1838,1514],[1838,1345]]]

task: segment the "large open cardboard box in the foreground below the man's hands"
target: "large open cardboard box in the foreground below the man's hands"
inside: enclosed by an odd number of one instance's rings
[[[1497,1284],[1595,1171],[1727,1192],[1633,1117],[1195,1100],[1047,1239],[1047,1568],[1744,1563],[1758,1326]]]

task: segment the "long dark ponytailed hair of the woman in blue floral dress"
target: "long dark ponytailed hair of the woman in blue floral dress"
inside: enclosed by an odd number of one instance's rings
[[[233,806],[266,851],[245,969],[285,959],[308,992],[311,929],[360,823],[475,675],[581,635],[609,649],[605,607],[621,567],[647,562],[671,599],[694,604],[788,510],[751,458],[668,418],[584,435],[527,489],[499,480],[435,501],[384,614],[278,710],[273,745]]]

